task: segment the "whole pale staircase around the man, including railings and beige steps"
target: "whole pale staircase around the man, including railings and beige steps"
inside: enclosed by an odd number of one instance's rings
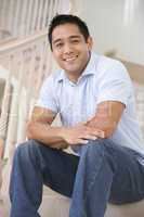
[[[26,139],[27,118],[42,80],[56,67],[48,46],[49,22],[57,12],[78,12],[78,0],[0,1],[0,138],[4,143],[3,157],[8,158],[3,169],[4,181],[0,200],[0,212],[2,209],[3,214],[0,213],[0,217],[8,217],[10,212],[8,191],[15,146]],[[9,16],[5,13],[8,9]],[[142,75],[141,72],[144,72],[144,66],[136,65],[134,73],[135,64],[126,63],[126,65],[130,67],[130,75],[134,79],[138,114],[144,131],[144,80],[138,79]],[[39,212],[42,217],[68,217],[69,203],[68,197],[44,187]],[[144,217],[143,207],[143,201],[126,206],[108,205],[105,217]]]

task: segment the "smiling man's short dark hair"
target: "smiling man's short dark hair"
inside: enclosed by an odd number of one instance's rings
[[[51,50],[52,50],[52,33],[54,28],[56,26],[68,24],[68,23],[77,25],[80,33],[83,35],[86,41],[88,40],[90,33],[89,33],[87,24],[81,18],[71,14],[57,14],[56,16],[52,18],[49,26],[48,39],[50,42]]]

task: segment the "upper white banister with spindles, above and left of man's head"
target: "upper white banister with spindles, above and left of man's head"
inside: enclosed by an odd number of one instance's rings
[[[50,20],[56,13],[69,13],[73,4],[76,4],[75,1],[76,0],[1,0],[0,28],[2,29],[2,34],[10,35],[9,37],[22,38],[45,29]]]

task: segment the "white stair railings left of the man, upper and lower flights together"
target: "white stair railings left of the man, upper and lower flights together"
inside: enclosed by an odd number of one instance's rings
[[[26,140],[26,123],[41,82],[56,67],[48,44],[48,26],[56,13],[74,13],[76,2],[0,1],[0,144],[4,144],[3,158],[8,158],[0,195],[4,217],[10,210],[9,178],[15,146]]]

